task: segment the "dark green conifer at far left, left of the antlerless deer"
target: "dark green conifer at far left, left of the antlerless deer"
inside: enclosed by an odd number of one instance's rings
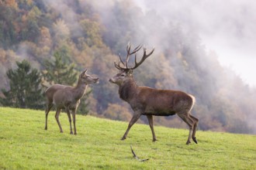
[[[32,69],[27,60],[16,62],[16,70],[8,70],[6,75],[10,81],[10,90],[2,89],[5,97],[0,103],[8,107],[43,108],[43,92],[40,87],[40,72]]]

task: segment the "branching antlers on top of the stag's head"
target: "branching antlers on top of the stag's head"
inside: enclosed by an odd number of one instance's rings
[[[154,52],[154,49],[152,49],[152,51],[150,53],[147,54],[147,49],[144,47],[144,55],[142,56],[142,59],[140,60],[139,63],[137,63],[137,52],[141,49],[141,45],[140,46],[137,46],[135,49],[133,49],[133,52],[130,53],[130,43],[128,43],[128,45],[126,46],[126,51],[127,51],[127,55],[126,55],[126,62],[124,63],[123,60],[121,59],[121,56],[119,54],[119,63],[116,64],[115,62],[115,66],[118,70],[134,70],[136,69],[138,66],[140,66],[141,63],[144,62],[145,59],[147,59],[148,56],[150,56],[153,52]],[[133,55],[135,53],[135,66],[129,68],[128,67],[128,62],[129,62],[129,57],[131,55]],[[120,63],[123,64],[124,67],[120,66]]]

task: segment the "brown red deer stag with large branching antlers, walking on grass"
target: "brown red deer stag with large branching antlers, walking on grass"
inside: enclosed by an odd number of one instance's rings
[[[126,47],[126,61],[124,62],[121,56],[119,56],[119,63],[114,63],[119,73],[109,79],[109,82],[116,83],[119,86],[119,97],[129,103],[134,111],[122,140],[126,139],[130,128],[140,116],[146,115],[153,135],[153,141],[157,141],[154,134],[153,116],[178,114],[178,117],[181,117],[182,120],[189,125],[189,138],[186,144],[189,145],[189,143],[191,143],[191,138],[197,144],[195,131],[199,120],[190,113],[195,104],[195,97],[177,90],[157,90],[150,87],[137,86],[136,82],[133,80],[133,70],[140,66],[140,64],[154,52],[154,49],[152,49],[150,53],[147,53],[146,48],[144,48],[143,56],[140,62],[137,63],[136,53],[142,46],[137,46],[132,52],[130,52],[130,47],[130,44]],[[129,67],[129,57],[133,54],[135,54],[135,66]],[[122,63],[123,66],[120,66],[120,63]]]

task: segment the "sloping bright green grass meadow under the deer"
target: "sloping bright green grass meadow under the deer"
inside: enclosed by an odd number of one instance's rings
[[[0,107],[0,169],[256,169],[256,136],[197,131],[199,144],[185,145],[189,130],[134,124],[125,141],[127,122],[77,116],[69,134],[67,115],[59,132],[54,112],[44,130],[42,110]],[[133,158],[130,145],[140,158]]]

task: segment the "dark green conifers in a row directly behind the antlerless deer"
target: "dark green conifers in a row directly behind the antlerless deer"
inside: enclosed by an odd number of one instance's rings
[[[9,90],[2,89],[4,97],[0,103],[5,107],[19,107],[30,109],[44,109],[44,91],[55,83],[75,85],[78,79],[78,70],[74,64],[68,65],[62,60],[59,53],[54,53],[54,63],[46,61],[46,70],[41,72],[32,68],[28,60],[16,62],[16,69],[9,69],[6,73],[9,78]],[[89,90],[85,95],[91,93]],[[79,114],[88,114],[88,101],[81,99]]]

